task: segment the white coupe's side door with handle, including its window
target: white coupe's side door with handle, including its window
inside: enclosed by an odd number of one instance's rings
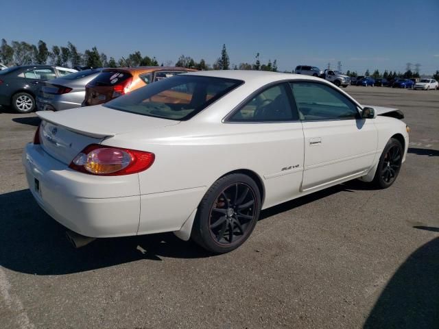
[[[357,104],[320,82],[292,82],[305,136],[301,191],[320,189],[365,174],[377,151],[373,119],[361,119]]]

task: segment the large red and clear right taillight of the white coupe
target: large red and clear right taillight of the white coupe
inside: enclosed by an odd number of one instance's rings
[[[106,145],[88,145],[72,160],[69,167],[91,175],[129,175],[152,166],[153,153]]]

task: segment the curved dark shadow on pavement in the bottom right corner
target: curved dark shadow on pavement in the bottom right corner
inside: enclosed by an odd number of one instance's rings
[[[366,319],[372,328],[439,328],[439,237],[396,270]]]

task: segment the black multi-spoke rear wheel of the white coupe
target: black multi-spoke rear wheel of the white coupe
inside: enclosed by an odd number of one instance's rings
[[[257,184],[241,173],[226,175],[209,188],[200,202],[191,238],[209,252],[231,252],[248,239],[260,211]]]

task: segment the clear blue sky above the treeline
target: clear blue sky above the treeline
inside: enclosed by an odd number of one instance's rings
[[[2,1],[0,38],[80,51],[96,46],[108,58],[139,50],[159,62],[184,54],[212,64],[225,43],[230,62],[277,59],[364,73],[439,69],[439,0],[331,1]]]

